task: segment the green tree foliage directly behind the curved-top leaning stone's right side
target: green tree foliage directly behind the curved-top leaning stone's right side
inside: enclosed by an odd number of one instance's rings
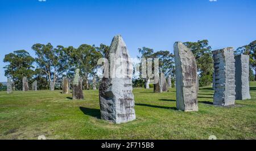
[[[209,46],[208,40],[199,40],[197,42],[185,42],[188,48],[191,48],[197,64],[197,72],[199,72],[199,85],[208,86],[212,83],[213,74],[213,58],[212,48]]]

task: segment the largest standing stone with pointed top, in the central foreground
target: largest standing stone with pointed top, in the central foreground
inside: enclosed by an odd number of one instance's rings
[[[122,62],[116,62],[120,59]],[[122,36],[118,35],[113,38],[108,60],[110,77],[102,78],[99,88],[101,119],[117,124],[135,120],[133,65]],[[121,73],[113,73],[113,70],[119,69],[122,70]]]

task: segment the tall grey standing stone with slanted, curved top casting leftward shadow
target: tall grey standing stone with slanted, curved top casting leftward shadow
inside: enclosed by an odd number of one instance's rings
[[[183,43],[174,44],[177,110],[198,111],[196,59]]]

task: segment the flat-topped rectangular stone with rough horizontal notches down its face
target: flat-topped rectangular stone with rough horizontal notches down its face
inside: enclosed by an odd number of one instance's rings
[[[234,49],[224,48],[213,51],[214,60],[214,96],[213,104],[229,106],[235,103],[235,60]]]

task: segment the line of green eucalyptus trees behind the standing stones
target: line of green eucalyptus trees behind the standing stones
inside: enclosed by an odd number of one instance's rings
[[[196,42],[185,42],[188,48],[191,48],[196,61],[197,73],[199,74],[199,85],[208,86],[212,83],[213,75],[213,58],[212,47],[209,46],[208,40],[199,40]],[[95,45],[81,44],[78,48],[72,46],[63,47],[57,45],[53,47],[51,43],[48,44],[34,44],[31,49],[35,52],[35,58],[25,50],[14,51],[5,55],[3,62],[8,63],[4,67],[5,76],[13,80],[14,90],[22,89],[22,78],[27,77],[28,81],[38,81],[38,88],[40,90],[49,89],[50,82],[53,85],[61,83],[63,77],[72,79],[75,69],[80,69],[80,76],[82,77],[83,89],[90,89],[90,79],[100,78],[97,75],[98,59],[101,57],[108,57],[109,46],[100,44],[99,47]],[[159,59],[159,73],[162,72],[166,77],[171,76],[175,78],[175,62],[174,54],[170,51],[157,51],[143,47],[138,48],[139,56],[137,58],[158,58]],[[250,56],[250,80],[256,80],[256,40],[248,45],[238,48],[235,54],[248,54]],[[154,69],[152,69],[154,71]],[[147,78],[141,77],[141,70],[139,77],[133,80],[135,87],[143,87]],[[173,80],[174,81],[174,80]]]

